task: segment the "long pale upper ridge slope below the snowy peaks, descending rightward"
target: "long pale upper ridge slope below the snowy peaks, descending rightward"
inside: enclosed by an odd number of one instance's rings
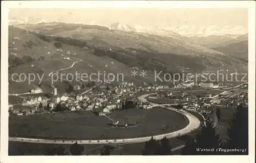
[[[118,24],[120,26],[120,24]],[[148,33],[137,33],[112,30],[103,26],[71,24],[71,23],[39,23],[39,24],[20,24],[20,28],[25,30],[42,32],[45,35],[55,35],[61,37],[73,37],[75,39],[91,40],[97,39],[104,41],[106,44],[115,45],[123,48],[141,48],[151,46],[152,49],[159,52],[172,52],[177,55],[208,55],[221,52],[205,48],[193,43],[181,40],[176,34],[174,37],[164,37]],[[123,28],[121,26],[120,28]]]

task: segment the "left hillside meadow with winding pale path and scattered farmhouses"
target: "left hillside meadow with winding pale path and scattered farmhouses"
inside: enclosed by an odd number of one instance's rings
[[[19,55],[14,56],[11,53],[9,53],[9,62],[12,61],[13,63],[12,65],[9,64],[9,93],[27,93],[30,89],[33,88],[34,85],[37,85],[39,82],[37,76],[36,80],[32,83],[29,83],[28,78],[24,82],[17,81],[17,75],[15,75],[14,80],[12,80],[11,75],[13,73],[24,73],[27,76],[30,73],[34,73],[36,75],[38,74],[40,77],[42,74],[44,74],[40,87],[45,93],[50,91],[49,86],[52,84],[52,79],[49,76],[49,74],[53,71],[61,72],[62,78],[60,79],[62,79],[62,81],[54,82],[54,85],[58,89],[59,93],[66,92],[69,86],[67,81],[65,82],[65,79],[67,77],[65,74],[71,73],[73,74],[73,76],[75,76],[76,72],[80,74],[86,73],[88,74],[88,76],[90,76],[90,74],[92,73],[97,74],[99,72],[103,74],[103,72],[105,71],[106,73],[113,73],[115,74],[115,76],[117,76],[118,73],[122,74],[124,80],[120,78],[119,82],[133,82],[136,85],[140,85],[142,82],[154,83],[154,73],[147,72],[147,76],[145,77],[141,77],[139,75],[133,77],[131,76],[131,71],[133,70],[131,67],[121,62],[118,62],[117,60],[114,60],[110,57],[99,57],[94,55],[93,50],[83,48],[83,46],[86,46],[86,42],[84,41],[79,41],[72,38],[62,38],[63,43],[61,47],[56,48],[54,46],[54,43],[58,42],[56,41],[58,38],[56,36],[49,37],[41,34],[26,32],[21,29],[12,27],[10,27],[9,31],[11,32],[10,35],[14,35],[14,37],[19,37],[19,39],[17,39],[17,42],[19,43],[18,45],[20,45],[20,48],[18,49]],[[31,47],[31,49],[35,50],[34,54],[33,51],[31,52],[30,48],[22,48],[23,43],[27,40],[31,40],[31,42],[36,42],[36,46]],[[44,40],[47,40],[48,42]],[[48,49],[50,55],[48,55],[48,53],[45,54],[45,45],[47,45],[48,47],[52,47]],[[24,54],[25,56],[22,56],[20,54]],[[34,56],[41,55],[46,55],[48,57],[45,57],[44,59],[40,60],[32,58]],[[67,60],[61,55],[69,56],[70,59]],[[78,60],[82,61],[75,63]],[[71,65],[73,64],[74,66],[71,67]],[[61,69],[65,70],[61,71]],[[64,75],[62,76],[62,74]],[[119,76],[122,77],[122,75]],[[98,79],[97,76],[96,79]],[[103,79],[103,75],[100,76],[100,79]],[[115,79],[115,81],[116,80],[117,79]],[[81,83],[77,82],[75,79],[70,83],[72,85],[81,85]],[[86,82],[84,84],[86,84]]]

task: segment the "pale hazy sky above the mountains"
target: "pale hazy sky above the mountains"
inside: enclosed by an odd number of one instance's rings
[[[45,18],[62,22],[142,26],[225,26],[247,28],[247,9],[11,9],[9,18]]]

